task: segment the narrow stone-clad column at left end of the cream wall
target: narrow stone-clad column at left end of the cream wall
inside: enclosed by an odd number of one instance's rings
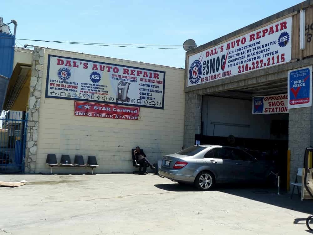
[[[25,173],[34,173],[37,157],[39,106],[41,97],[44,48],[35,47],[33,51],[32,74],[28,100],[28,124],[25,156]]]

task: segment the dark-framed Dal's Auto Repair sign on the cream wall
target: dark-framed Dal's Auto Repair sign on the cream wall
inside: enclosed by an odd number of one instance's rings
[[[163,109],[165,72],[48,56],[46,97]]]

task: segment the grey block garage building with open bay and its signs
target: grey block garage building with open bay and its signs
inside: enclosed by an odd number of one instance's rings
[[[237,146],[293,181],[313,145],[312,34],[305,1],[187,51],[184,146]]]

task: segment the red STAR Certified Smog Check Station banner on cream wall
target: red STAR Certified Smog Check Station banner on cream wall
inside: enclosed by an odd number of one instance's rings
[[[90,102],[74,103],[75,116],[96,117],[96,118],[113,118],[124,120],[138,120],[139,107],[122,107],[110,104],[97,104]]]

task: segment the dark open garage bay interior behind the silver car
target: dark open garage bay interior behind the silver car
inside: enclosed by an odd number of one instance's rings
[[[252,114],[253,97],[285,93],[287,78],[203,95],[201,134],[195,142],[238,147],[270,162],[286,190],[289,114]]]

